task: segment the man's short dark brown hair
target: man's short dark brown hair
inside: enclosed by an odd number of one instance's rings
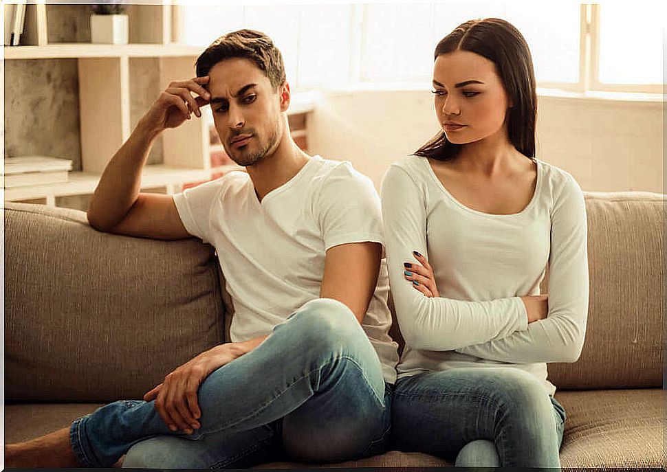
[[[211,67],[230,58],[252,60],[269,78],[274,89],[285,82],[285,66],[280,49],[269,36],[254,30],[234,31],[213,41],[197,58],[197,77],[207,76]]]

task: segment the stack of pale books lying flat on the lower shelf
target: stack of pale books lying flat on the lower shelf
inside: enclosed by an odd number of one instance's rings
[[[6,157],[3,187],[63,183],[69,178],[72,161],[45,156]]]

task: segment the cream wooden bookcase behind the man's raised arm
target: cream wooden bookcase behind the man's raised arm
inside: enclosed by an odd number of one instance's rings
[[[202,48],[173,42],[175,8],[169,3],[127,5],[129,44],[102,45],[89,43],[89,5],[27,5],[21,45],[4,47],[5,61],[76,60],[80,169],[70,172],[67,183],[6,189],[6,201],[85,210],[102,170],[138,118],[169,82],[194,76]],[[146,76],[151,78],[150,87]],[[6,74],[6,83],[12,79]],[[291,109],[293,135],[305,147],[312,103],[309,97],[296,98]],[[203,111],[201,119],[193,115],[158,138],[144,168],[142,191],[178,192],[237,168],[216,143],[210,107]]]

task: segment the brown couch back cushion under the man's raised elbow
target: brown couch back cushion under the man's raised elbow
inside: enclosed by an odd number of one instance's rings
[[[212,247],[104,234],[78,210],[6,203],[7,401],[141,398],[223,339]]]

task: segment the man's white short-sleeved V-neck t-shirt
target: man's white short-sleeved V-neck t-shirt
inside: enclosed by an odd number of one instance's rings
[[[292,179],[257,199],[250,176],[230,172],[173,196],[188,233],[213,245],[234,304],[231,340],[270,334],[319,297],[326,251],[382,243],[380,199],[349,162],[312,157]],[[353,270],[353,268],[351,268]],[[397,344],[389,337],[386,260],[362,327],[393,383]]]

